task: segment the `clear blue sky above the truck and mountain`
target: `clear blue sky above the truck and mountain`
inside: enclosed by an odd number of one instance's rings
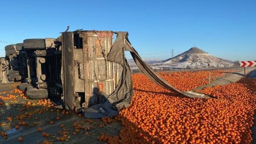
[[[194,44],[229,60],[256,59],[256,0],[2,0],[0,56],[23,39],[70,31],[128,31],[144,59],[167,59]],[[8,42],[8,43],[6,43]]]

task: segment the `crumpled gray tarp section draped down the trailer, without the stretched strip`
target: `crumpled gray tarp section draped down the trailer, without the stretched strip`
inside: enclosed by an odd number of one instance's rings
[[[102,118],[116,115],[121,108],[130,105],[133,95],[131,69],[125,58],[124,36],[127,33],[118,33],[115,43],[108,53],[107,60],[116,62],[123,67],[121,78],[119,79],[115,91],[111,95],[103,94],[106,101],[103,104],[92,105],[85,110],[85,118]]]

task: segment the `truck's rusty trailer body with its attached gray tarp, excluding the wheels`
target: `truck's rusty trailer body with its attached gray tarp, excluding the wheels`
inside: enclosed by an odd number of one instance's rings
[[[158,85],[181,97],[204,96],[180,92],[156,75],[131,46],[127,32],[77,30],[64,32],[60,37],[65,108],[74,111],[82,108],[87,118],[113,116],[130,105],[132,79],[125,51],[131,52],[139,69]]]

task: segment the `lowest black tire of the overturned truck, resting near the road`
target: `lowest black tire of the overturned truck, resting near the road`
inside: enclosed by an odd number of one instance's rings
[[[45,99],[48,98],[48,92],[44,88],[30,88],[26,91],[26,97],[29,99]]]

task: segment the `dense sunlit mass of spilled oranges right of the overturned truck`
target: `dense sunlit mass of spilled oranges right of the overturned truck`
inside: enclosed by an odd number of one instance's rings
[[[208,73],[209,74],[209,73]],[[208,82],[207,72],[160,73],[180,90]],[[222,73],[216,72],[221,76]],[[212,72],[212,75],[215,75]],[[128,108],[115,117],[121,121],[118,136],[102,134],[108,143],[238,144],[251,143],[256,110],[256,80],[206,88],[215,98],[180,98],[142,74],[133,75],[134,96]],[[191,86],[192,85],[192,86]],[[106,123],[108,118],[103,118]],[[115,138],[114,138],[115,137]]]

